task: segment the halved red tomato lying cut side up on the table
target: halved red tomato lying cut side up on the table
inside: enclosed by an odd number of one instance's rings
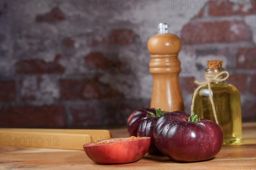
[[[87,156],[99,164],[125,164],[141,159],[150,146],[151,137],[111,138],[84,144]]]

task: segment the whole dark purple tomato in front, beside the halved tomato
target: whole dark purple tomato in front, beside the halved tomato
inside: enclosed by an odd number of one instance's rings
[[[189,119],[188,119],[189,118]],[[214,157],[223,144],[221,128],[213,121],[187,113],[169,112],[154,126],[157,148],[176,161],[203,161]]]

